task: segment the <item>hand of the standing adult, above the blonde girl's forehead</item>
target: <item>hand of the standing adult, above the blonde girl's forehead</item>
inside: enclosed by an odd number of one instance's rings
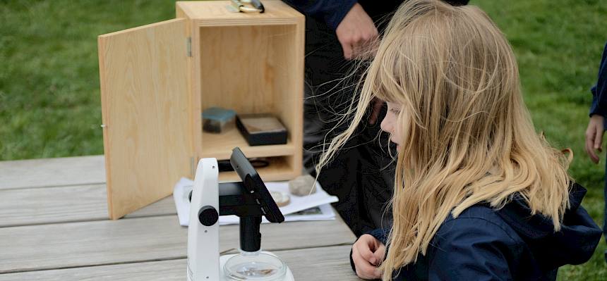
[[[350,8],[342,22],[337,25],[335,33],[342,44],[344,58],[348,60],[375,50],[378,30],[363,6],[358,3]]]

